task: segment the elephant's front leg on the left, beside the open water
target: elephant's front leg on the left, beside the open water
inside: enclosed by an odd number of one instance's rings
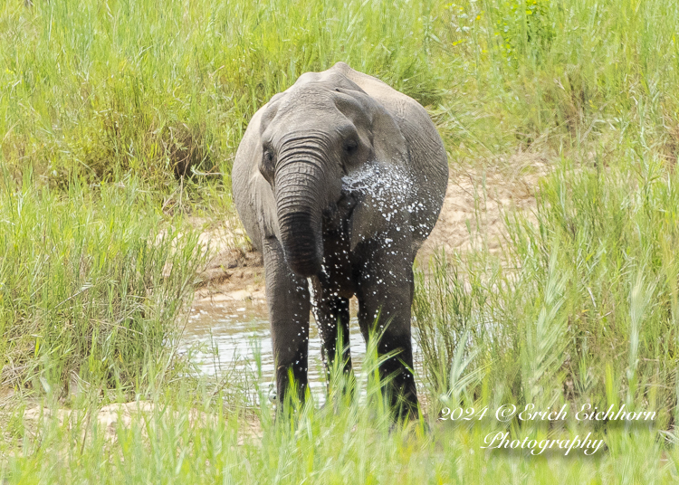
[[[274,238],[263,241],[266,302],[272,330],[273,358],[276,365],[278,407],[282,409],[292,371],[298,396],[304,399],[309,356],[309,287],[283,257],[281,244]]]

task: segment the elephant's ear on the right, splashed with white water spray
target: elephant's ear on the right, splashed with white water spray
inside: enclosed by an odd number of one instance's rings
[[[359,168],[359,173],[365,170],[366,176],[349,219],[351,251],[362,241],[386,234],[392,225],[407,227],[403,222],[407,216],[403,202],[408,198],[411,186],[407,177],[406,138],[387,109],[377,100],[369,100],[372,106],[370,138],[373,153],[368,164]]]

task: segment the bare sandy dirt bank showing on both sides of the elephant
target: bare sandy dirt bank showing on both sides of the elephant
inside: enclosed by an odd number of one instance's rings
[[[531,217],[536,208],[538,181],[548,171],[547,158],[521,153],[501,162],[496,166],[502,168],[483,171],[451,169],[438,222],[417,253],[419,264],[426,263],[440,248],[447,254],[464,254],[485,243],[490,252],[499,252],[504,235],[503,214],[513,210]],[[248,250],[243,241],[244,229],[237,221],[201,234],[201,243],[209,246],[213,255],[200,274],[195,305],[243,301],[264,304],[262,255],[252,248]]]

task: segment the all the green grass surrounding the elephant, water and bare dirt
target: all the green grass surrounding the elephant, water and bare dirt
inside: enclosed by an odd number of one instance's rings
[[[669,0],[6,0],[0,476],[677,480],[678,28]],[[223,399],[236,383],[191,376],[175,352],[205,258],[188,216],[234,218],[231,163],[253,112],[338,61],[425,105],[453,174],[537,171],[525,154],[549,168],[534,214],[505,214],[502,252],[440,253],[419,268],[427,408],[403,429],[374,382],[273,423],[265,398]],[[130,400],[155,406],[110,439],[91,416]],[[36,403],[49,413],[26,423]],[[657,418],[435,423],[443,406],[528,403],[626,404]],[[584,430],[607,451],[480,448],[504,430]]]

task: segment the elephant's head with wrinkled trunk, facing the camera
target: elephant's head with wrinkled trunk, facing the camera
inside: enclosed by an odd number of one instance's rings
[[[342,178],[368,163],[403,166],[406,141],[387,110],[339,72],[303,75],[273,97],[261,122],[260,172],[271,184],[283,252],[292,271],[321,270],[323,221],[370,225]],[[324,217],[325,214],[325,217]],[[331,222],[330,222],[331,223]]]

